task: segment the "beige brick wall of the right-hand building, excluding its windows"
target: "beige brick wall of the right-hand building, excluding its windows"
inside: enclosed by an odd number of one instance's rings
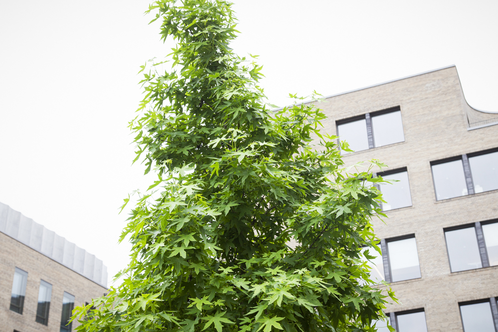
[[[498,296],[498,266],[451,273],[443,228],[498,218],[498,190],[436,201],[430,162],[498,147],[498,114],[472,109],[454,66],[329,97],[319,107],[336,121],[400,107],[405,141],[344,156],[347,165],[379,159],[387,169],[407,167],[412,206],[374,221],[379,238],[415,233],[422,277],[391,283],[400,305],[424,308],[429,332],[462,332],[458,303]],[[469,127],[471,130],[468,130]],[[378,170],[374,170],[378,171]]]

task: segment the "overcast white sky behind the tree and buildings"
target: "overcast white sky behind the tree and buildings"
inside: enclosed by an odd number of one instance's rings
[[[0,0],[0,202],[108,266],[128,193],[147,187],[126,127],[139,66],[169,53],[147,0]],[[471,106],[498,111],[498,1],[237,0],[240,55],[272,104],[457,66]],[[109,279],[111,281],[111,277]]]

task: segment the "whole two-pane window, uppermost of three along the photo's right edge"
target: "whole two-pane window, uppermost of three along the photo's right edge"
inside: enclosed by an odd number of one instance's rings
[[[431,163],[436,199],[498,189],[498,151],[482,151]]]

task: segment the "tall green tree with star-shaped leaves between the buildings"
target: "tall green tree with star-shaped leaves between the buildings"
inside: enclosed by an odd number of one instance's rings
[[[362,259],[365,246],[379,251],[381,179],[346,173],[316,99],[262,103],[261,67],[229,47],[231,3],[158,0],[150,11],[180,67],[141,67],[130,122],[135,161],[158,180],[123,231],[133,244],[123,284],[79,308],[78,331],[373,331],[392,297]]]

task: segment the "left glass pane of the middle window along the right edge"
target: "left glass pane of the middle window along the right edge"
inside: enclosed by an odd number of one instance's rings
[[[474,227],[450,230],[444,233],[451,272],[483,267]]]

